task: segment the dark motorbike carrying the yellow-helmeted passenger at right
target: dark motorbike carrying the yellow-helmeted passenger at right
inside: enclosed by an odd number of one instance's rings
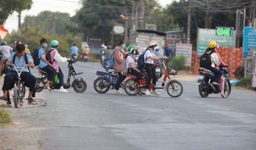
[[[224,76],[224,95],[226,97],[230,96],[231,93],[231,83],[230,79],[228,79],[229,72],[227,68],[221,68]],[[199,94],[202,97],[207,97],[209,94],[217,94],[221,93],[219,90],[219,85],[213,85],[213,80],[215,79],[215,74],[206,69],[206,68],[199,68],[199,75],[202,75],[202,81],[199,84]]]

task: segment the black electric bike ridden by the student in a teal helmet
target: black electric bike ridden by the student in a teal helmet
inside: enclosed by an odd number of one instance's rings
[[[85,82],[84,79],[81,77],[77,77],[77,75],[83,74],[81,73],[76,73],[74,70],[73,64],[74,60],[68,60],[68,80],[67,83],[64,83],[63,88],[68,89],[68,88],[74,88],[74,90],[77,93],[83,93],[85,92],[87,88],[87,83]],[[44,85],[47,82],[47,73],[42,71],[40,68],[38,68],[38,72],[40,74],[40,77],[37,78],[37,83],[36,83],[36,92],[41,92],[44,88]],[[71,84],[71,76],[73,76],[74,81]],[[50,85],[51,89],[60,89],[60,84],[58,82],[51,82]]]

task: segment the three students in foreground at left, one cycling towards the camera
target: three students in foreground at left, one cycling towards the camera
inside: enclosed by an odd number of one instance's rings
[[[63,72],[60,69],[59,63],[65,62],[68,59],[66,57],[61,57],[57,51],[59,43],[57,40],[51,41],[51,50],[50,50],[50,60],[46,60],[46,49],[48,47],[48,41],[46,38],[40,40],[40,48],[38,50],[38,58],[40,60],[39,68],[49,74],[48,81],[46,82],[45,88],[51,91],[50,82],[53,81],[54,76],[57,74],[60,82],[60,92],[68,92],[63,88]],[[29,67],[34,68],[34,60],[32,56],[25,52],[25,45],[23,43],[17,43],[15,46],[15,51],[9,56],[5,56],[4,59],[7,61],[5,65],[15,65],[16,67],[24,67],[29,65]],[[10,51],[11,52],[11,51]],[[2,57],[3,58],[3,57]],[[52,61],[51,61],[52,60]],[[10,71],[4,76],[4,85],[2,90],[4,91],[4,96],[0,96],[0,99],[7,101],[5,104],[1,104],[2,107],[11,107],[10,93],[9,90],[14,88],[15,80],[17,79],[17,72],[14,68],[11,68]],[[29,88],[28,104],[37,105],[35,101],[35,86],[36,86],[36,77],[33,76],[29,68],[24,68],[21,73],[21,79],[24,82],[24,85]]]

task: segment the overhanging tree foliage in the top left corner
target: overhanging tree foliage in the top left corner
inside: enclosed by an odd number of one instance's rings
[[[32,6],[32,0],[0,0],[0,24],[4,24],[8,16],[17,11],[29,10]]]

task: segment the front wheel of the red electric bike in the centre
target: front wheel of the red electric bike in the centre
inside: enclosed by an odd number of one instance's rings
[[[169,96],[177,98],[182,95],[183,87],[180,82],[172,81],[168,83],[166,90]]]

